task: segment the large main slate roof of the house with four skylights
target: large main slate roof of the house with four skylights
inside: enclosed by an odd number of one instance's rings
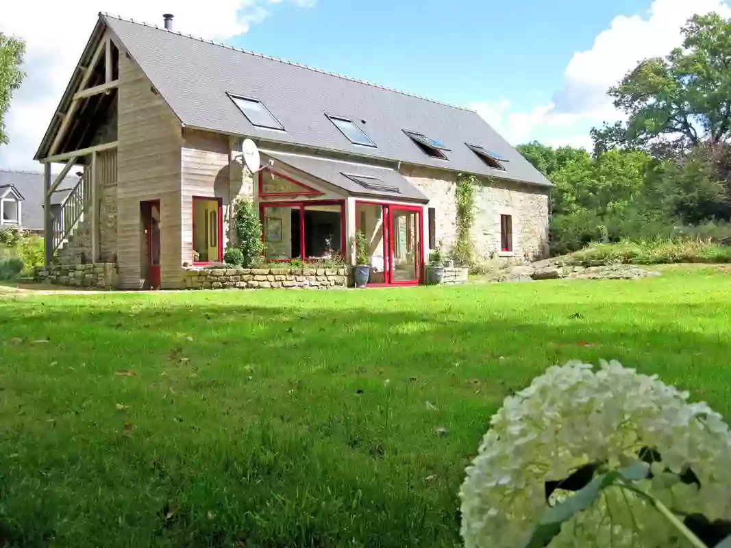
[[[474,110],[100,16],[186,126],[550,186]],[[227,94],[259,99],[284,131],[251,125]],[[326,114],[351,119],[377,148],[353,145]],[[404,130],[443,142],[449,160],[427,156]],[[488,167],[466,143],[506,159],[506,171]]]

